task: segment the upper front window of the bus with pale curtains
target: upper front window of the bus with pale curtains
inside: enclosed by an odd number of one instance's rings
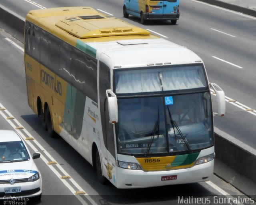
[[[206,87],[202,64],[115,71],[116,94],[159,92]]]

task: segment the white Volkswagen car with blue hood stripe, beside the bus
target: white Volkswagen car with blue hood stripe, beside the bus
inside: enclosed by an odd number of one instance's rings
[[[22,137],[12,130],[0,130],[0,199],[41,199],[42,178]]]

